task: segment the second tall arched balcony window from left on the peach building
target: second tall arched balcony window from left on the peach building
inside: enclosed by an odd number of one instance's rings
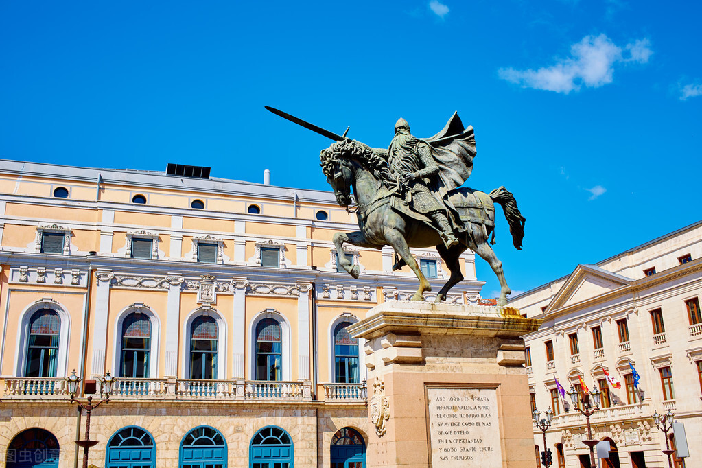
[[[145,314],[129,314],[122,323],[120,377],[149,377],[151,321]]]

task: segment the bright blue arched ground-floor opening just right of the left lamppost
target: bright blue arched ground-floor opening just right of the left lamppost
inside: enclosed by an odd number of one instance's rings
[[[154,439],[140,427],[124,427],[107,443],[105,468],[154,468],[155,466]]]

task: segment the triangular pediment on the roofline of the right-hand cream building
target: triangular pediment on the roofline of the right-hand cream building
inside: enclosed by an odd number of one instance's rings
[[[548,314],[552,310],[590,300],[611,290],[629,286],[633,281],[626,276],[608,272],[595,265],[578,265],[553,297],[545,312]]]

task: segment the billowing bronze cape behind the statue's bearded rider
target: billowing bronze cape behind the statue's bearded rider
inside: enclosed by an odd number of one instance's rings
[[[463,128],[458,112],[453,112],[443,130],[431,138],[420,138],[432,147],[432,155],[439,165],[439,191],[461,187],[473,170],[475,135],[473,127]]]

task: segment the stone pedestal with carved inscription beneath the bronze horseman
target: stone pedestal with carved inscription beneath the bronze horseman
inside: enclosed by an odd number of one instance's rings
[[[368,467],[533,468],[516,309],[385,302],[348,329],[366,340]]]

